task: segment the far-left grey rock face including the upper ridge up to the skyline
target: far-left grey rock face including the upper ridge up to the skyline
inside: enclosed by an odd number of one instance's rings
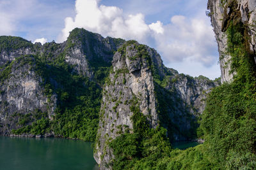
[[[36,53],[33,44],[10,36],[0,39],[0,134],[6,135],[32,120],[30,114],[35,110],[47,113],[51,119],[56,96],[45,96],[45,89],[40,85],[42,78],[33,69],[35,58],[31,55]],[[24,118],[24,115],[28,117]]]

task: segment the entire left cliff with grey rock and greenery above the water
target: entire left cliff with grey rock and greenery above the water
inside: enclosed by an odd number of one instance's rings
[[[100,85],[122,43],[123,39],[103,38],[84,29],[74,29],[63,43],[45,45],[1,36],[0,134],[51,132],[93,141]]]

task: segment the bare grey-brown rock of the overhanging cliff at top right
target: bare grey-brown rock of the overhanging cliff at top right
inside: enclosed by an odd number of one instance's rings
[[[248,34],[248,48],[255,53],[255,20],[256,20],[256,2],[254,0],[209,0],[208,10],[211,16],[212,26],[218,42],[220,53],[221,82],[230,82],[235,72],[231,69],[231,56],[227,53],[227,34],[226,31],[230,24],[244,25]],[[256,58],[255,58],[256,62]]]

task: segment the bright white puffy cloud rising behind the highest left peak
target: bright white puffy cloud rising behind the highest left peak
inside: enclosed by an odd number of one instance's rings
[[[75,27],[83,27],[103,36],[136,39],[143,43],[147,43],[150,31],[159,31],[160,23],[157,22],[150,29],[142,13],[125,16],[122,9],[116,6],[99,6],[96,0],[77,0],[76,13],[75,18],[65,19],[65,28],[58,41],[65,41],[69,32]]]

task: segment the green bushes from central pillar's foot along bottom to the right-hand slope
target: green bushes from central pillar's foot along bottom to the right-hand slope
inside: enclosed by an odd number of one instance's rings
[[[125,133],[111,141],[115,159],[107,166],[113,169],[213,169],[214,162],[208,153],[207,144],[187,150],[173,150],[166,129],[152,129],[147,117],[138,106],[136,97],[132,100],[133,133]]]

